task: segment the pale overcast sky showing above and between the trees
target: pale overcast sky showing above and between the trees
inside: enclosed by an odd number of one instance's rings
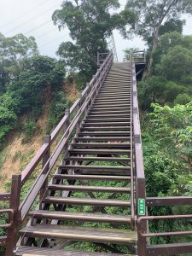
[[[126,0],[119,2],[123,7]],[[60,9],[61,3],[62,0],[0,0],[0,32],[6,37],[20,32],[27,37],[33,36],[42,55],[55,56],[59,44],[70,40],[67,29],[59,32],[51,20],[51,15],[55,9]],[[183,33],[192,34],[192,18],[184,18],[187,24]],[[122,60],[125,48],[146,48],[141,38],[125,40],[118,32],[114,32],[114,40],[119,60]]]

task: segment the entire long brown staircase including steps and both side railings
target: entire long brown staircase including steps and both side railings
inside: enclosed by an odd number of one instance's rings
[[[148,221],[192,216],[148,216],[148,208],[192,205],[192,197],[146,196],[137,102],[137,70],[145,54],[138,63],[138,53],[136,62],[103,56],[79,99],[26,169],[12,177],[10,192],[0,194],[9,204],[0,210],[8,216],[0,225],[5,256],[192,252],[192,242],[150,245],[150,237],[192,231],[150,233]]]

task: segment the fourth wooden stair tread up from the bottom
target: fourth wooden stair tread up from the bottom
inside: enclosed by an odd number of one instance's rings
[[[48,196],[44,198],[44,203],[64,204],[64,205],[83,205],[83,206],[99,206],[99,207],[130,207],[131,202],[125,200],[114,199],[96,199],[96,198],[76,198],[76,197],[55,197]]]

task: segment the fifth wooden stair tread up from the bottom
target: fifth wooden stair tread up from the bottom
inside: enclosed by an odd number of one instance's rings
[[[49,185],[49,190],[61,191],[83,191],[83,192],[106,192],[106,193],[131,193],[130,188],[105,187],[105,186],[84,186],[84,185]]]

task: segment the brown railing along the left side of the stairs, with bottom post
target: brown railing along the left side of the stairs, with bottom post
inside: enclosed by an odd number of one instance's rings
[[[102,82],[108,74],[108,70],[113,63],[113,53],[110,52],[102,66],[93,76],[90,83],[86,84],[86,87],[79,99],[74,102],[72,108],[66,110],[66,114],[61,119],[61,122],[55,127],[55,130],[45,136],[44,145],[38,150],[38,153],[33,157],[31,162],[26,166],[21,175],[15,175],[12,177],[12,189],[9,194],[0,195],[0,200],[9,200],[9,209],[3,209],[1,212],[9,212],[9,224],[1,226],[8,229],[8,235],[0,237],[0,245],[6,246],[6,256],[14,255],[14,247],[16,246],[18,228],[26,219],[27,212],[33,205],[33,202],[40,196],[39,202],[44,198],[47,190],[48,177],[56,165],[61,154],[64,154],[64,149],[67,149],[68,140],[72,136],[73,132],[78,129],[81,119],[87,113],[90,104],[93,102],[96,94]],[[75,114],[73,120],[70,118]],[[59,143],[54,146],[56,139],[61,135]],[[53,148],[51,148],[53,146]],[[32,184],[32,188],[26,195],[26,198],[20,203],[20,192],[26,182],[32,177],[32,174],[37,169],[39,164],[42,165],[40,173]],[[1,213],[0,212],[0,213]],[[14,220],[13,220],[14,219]]]

